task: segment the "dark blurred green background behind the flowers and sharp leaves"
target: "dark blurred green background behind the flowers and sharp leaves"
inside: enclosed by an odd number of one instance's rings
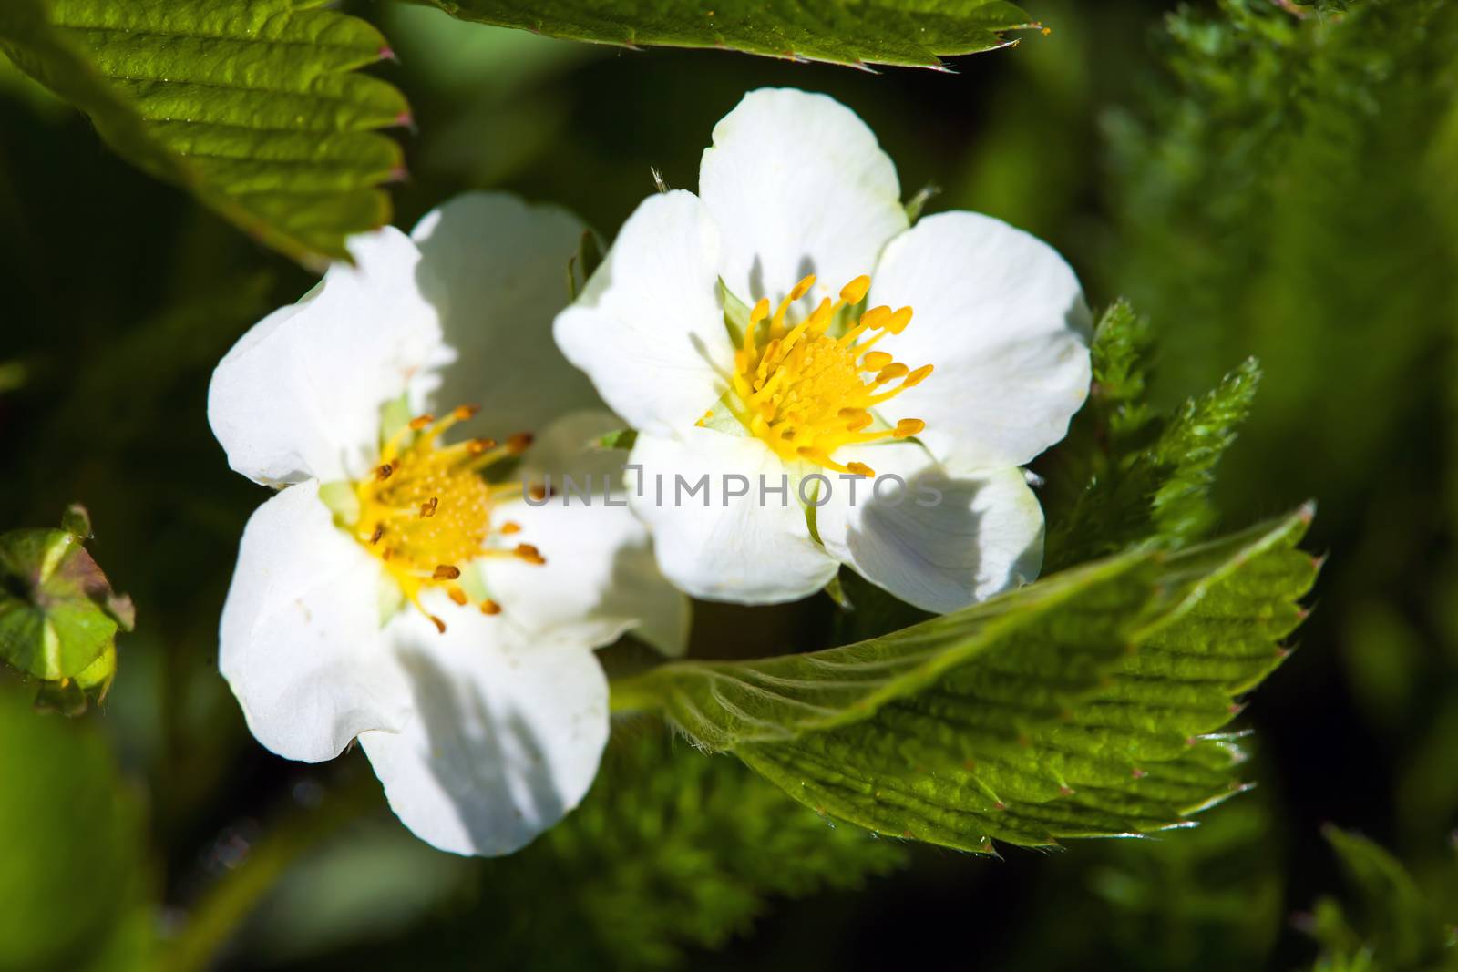
[[[0,682],[0,969],[1292,969],[1318,962],[1314,933],[1325,968],[1430,968],[1401,947],[1341,965],[1341,934],[1403,917],[1318,902],[1344,895],[1333,823],[1458,912],[1458,10],[1025,6],[1050,35],[955,74],[347,9],[391,38],[399,63],[378,71],[414,106],[401,226],[506,188],[611,239],[650,166],[693,188],[714,121],[792,85],[860,112],[907,195],[940,188],[929,211],[1003,217],[1066,254],[1095,306],[1130,297],[1163,399],[1258,356],[1225,525],[1315,497],[1308,546],[1330,561],[1299,651],[1241,717],[1254,791],[1193,831],[990,860],[831,828],[630,721],[588,804],[523,854],[420,844],[359,753],[305,767],[254,743],[216,670],[262,490],[226,468],[207,380],[311,278],[3,66],[0,528],[86,503],[139,625],[80,720]],[[815,647],[831,611],[710,606],[694,650]]]

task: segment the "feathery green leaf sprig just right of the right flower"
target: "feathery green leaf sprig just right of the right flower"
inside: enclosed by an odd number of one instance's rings
[[[1063,490],[1050,497],[1050,568],[1145,539],[1180,546],[1215,526],[1215,466],[1250,414],[1260,367],[1247,360],[1163,414],[1147,396],[1150,354],[1147,319],[1112,305],[1094,332],[1089,404],[1050,474]],[[1082,491],[1070,495],[1076,484]]]

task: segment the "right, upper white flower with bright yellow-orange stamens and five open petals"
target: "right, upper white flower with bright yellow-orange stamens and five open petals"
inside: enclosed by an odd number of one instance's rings
[[[757,90],[714,128],[698,195],[639,205],[555,337],[637,427],[630,498],[684,590],[789,600],[849,564],[952,611],[1038,573],[1019,466],[1083,404],[1088,326],[1045,243],[975,213],[910,227],[850,109]]]

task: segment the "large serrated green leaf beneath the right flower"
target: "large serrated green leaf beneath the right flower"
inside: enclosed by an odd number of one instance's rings
[[[1217,733],[1303,618],[1309,520],[1120,554],[840,648],[665,665],[614,707],[881,834],[990,851],[1180,825],[1239,788]]]

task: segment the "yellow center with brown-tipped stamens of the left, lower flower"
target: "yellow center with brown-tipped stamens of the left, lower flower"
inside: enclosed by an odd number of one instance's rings
[[[478,409],[462,405],[442,420],[420,415],[381,449],[375,474],[354,484],[359,519],[351,532],[383,563],[401,593],[445,632],[445,621],[424,609],[420,592],[439,587],[455,603],[472,603],[461,584],[461,568],[480,557],[516,557],[529,564],[547,563],[531,544],[500,545],[497,538],[516,533],[516,523],[493,523],[500,500],[519,494],[521,484],[493,485],[481,472],[494,462],[522,455],[531,444],[519,433],[497,444],[494,439],[468,439],[451,446],[440,436]],[[483,614],[500,614],[490,597],[475,599]]]

